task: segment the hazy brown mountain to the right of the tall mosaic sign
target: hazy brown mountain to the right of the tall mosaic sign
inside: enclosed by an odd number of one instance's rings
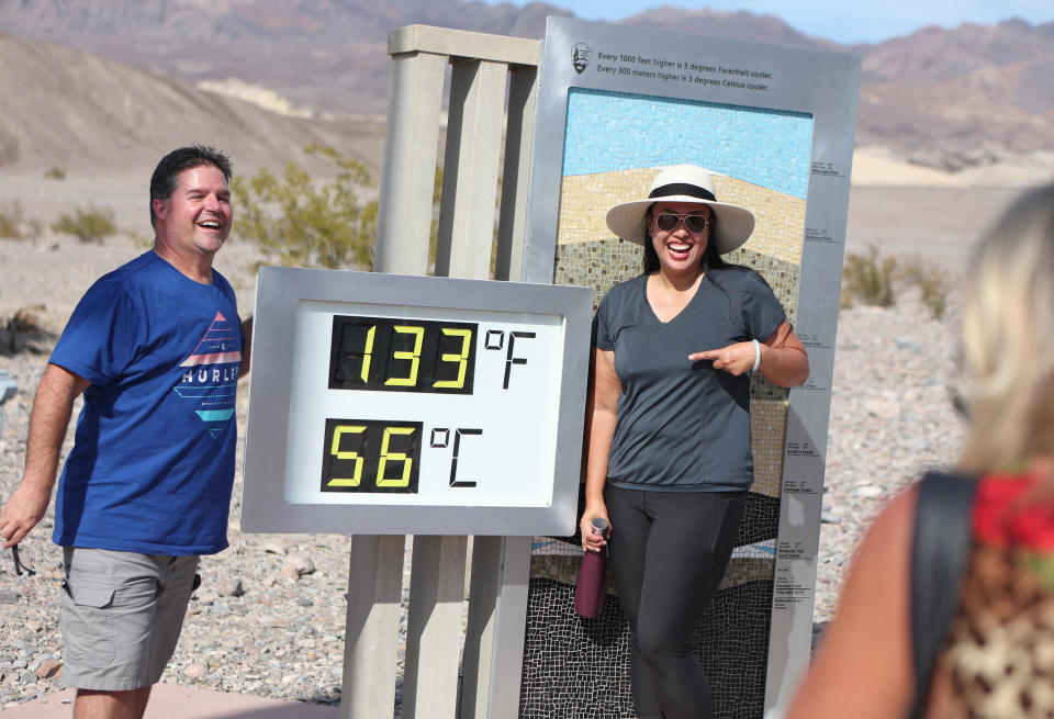
[[[1054,151],[1054,23],[928,27],[862,50],[857,143],[948,169]]]

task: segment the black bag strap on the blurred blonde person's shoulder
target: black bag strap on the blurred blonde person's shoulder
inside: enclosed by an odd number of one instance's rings
[[[911,540],[912,719],[929,697],[937,653],[958,610],[960,586],[973,544],[977,478],[927,472],[918,483]]]

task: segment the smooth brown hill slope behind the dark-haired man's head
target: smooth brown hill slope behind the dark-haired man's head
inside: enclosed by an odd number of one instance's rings
[[[106,176],[153,167],[176,145],[210,143],[254,166],[313,167],[312,143],[363,159],[379,173],[379,123],[301,120],[158,78],[68,47],[0,34],[0,167]],[[246,166],[247,165],[247,166]]]

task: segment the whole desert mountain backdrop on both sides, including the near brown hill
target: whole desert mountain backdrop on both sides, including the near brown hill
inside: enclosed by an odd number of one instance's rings
[[[317,141],[375,167],[390,30],[423,23],[541,37],[549,14],[570,13],[462,0],[0,0],[0,167],[40,161],[49,147],[67,165],[105,164],[143,144],[156,157],[150,138],[168,146],[188,123],[243,157],[284,160]],[[1054,23],[928,27],[855,46],[749,12],[666,7],[621,23],[857,53],[857,145],[917,165],[1054,160]],[[193,86],[251,92],[289,116]]]

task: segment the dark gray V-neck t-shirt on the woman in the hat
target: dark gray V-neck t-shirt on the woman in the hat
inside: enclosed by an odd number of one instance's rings
[[[648,303],[647,280],[612,288],[593,321],[594,344],[614,350],[623,384],[608,482],[666,492],[745,490],[753,478],[750,373],[733,377],[688,355],[764,341],[786,314],[761,276],[728,267],[708,270],[687,306],[663,323]]]

